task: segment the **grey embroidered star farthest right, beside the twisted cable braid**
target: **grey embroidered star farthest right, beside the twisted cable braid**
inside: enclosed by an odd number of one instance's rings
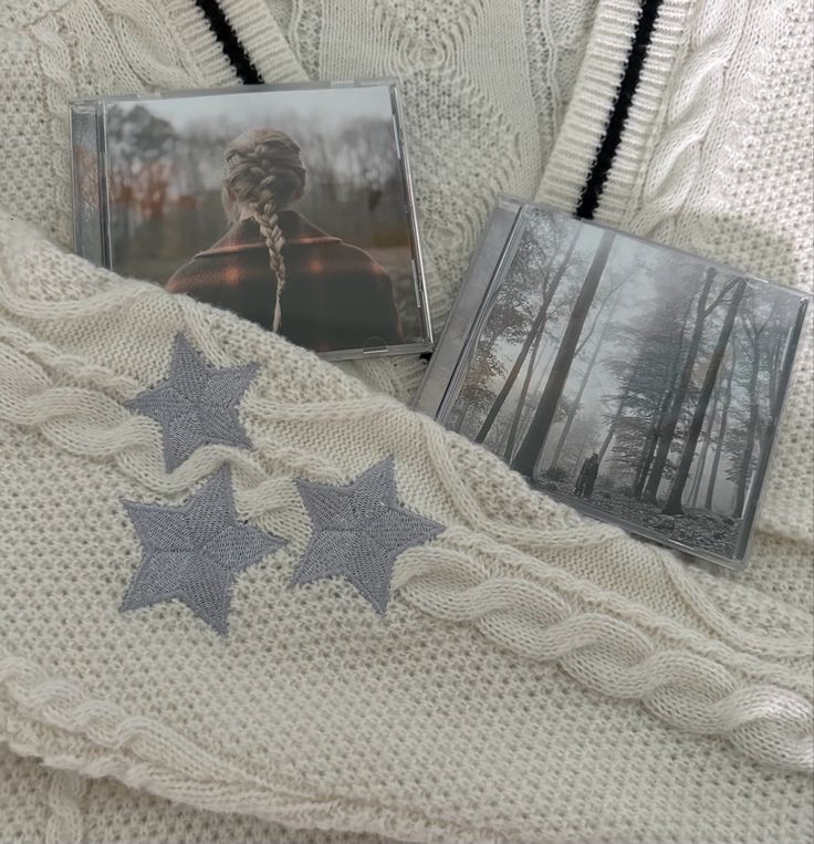
[[[392,457],[346,487],[296,481],[314,534],[291,586],[341,575],[384,615],[398,555],[437,536],[443,525],[396,501]]]

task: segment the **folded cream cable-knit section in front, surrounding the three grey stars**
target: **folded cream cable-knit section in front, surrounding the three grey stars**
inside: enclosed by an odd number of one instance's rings
[[[165,382],[179,335],[213,371],[257,367],[238,406],[251,448],[205,442],[167,471],[160,424],[127,405]],[[0,425],[0,740],[18,753],[409,841],[555,840],[552,760],[573,770],[636,737],[638,763],[717,767],[717,798],[744,812],[755,775],[784,805],[810,788],[807,613],[583,519],[316,356],[8,219]],[[385,458],[399,506],[441,530],[396,553],[380,617],[347,579],[290,583],[319,527],[298,482],[344,488]],[[123,502],[177,508],[223,466],[241,522],[285,543],[234,576],[227,635],[178,600],[122,612],[143,560]],[[635,806],[616,817],[645,829]]]

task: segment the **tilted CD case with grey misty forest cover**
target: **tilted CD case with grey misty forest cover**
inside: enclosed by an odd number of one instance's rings
[[[588,515],[742,567],[810,304],[504,198],[416,406]]]

